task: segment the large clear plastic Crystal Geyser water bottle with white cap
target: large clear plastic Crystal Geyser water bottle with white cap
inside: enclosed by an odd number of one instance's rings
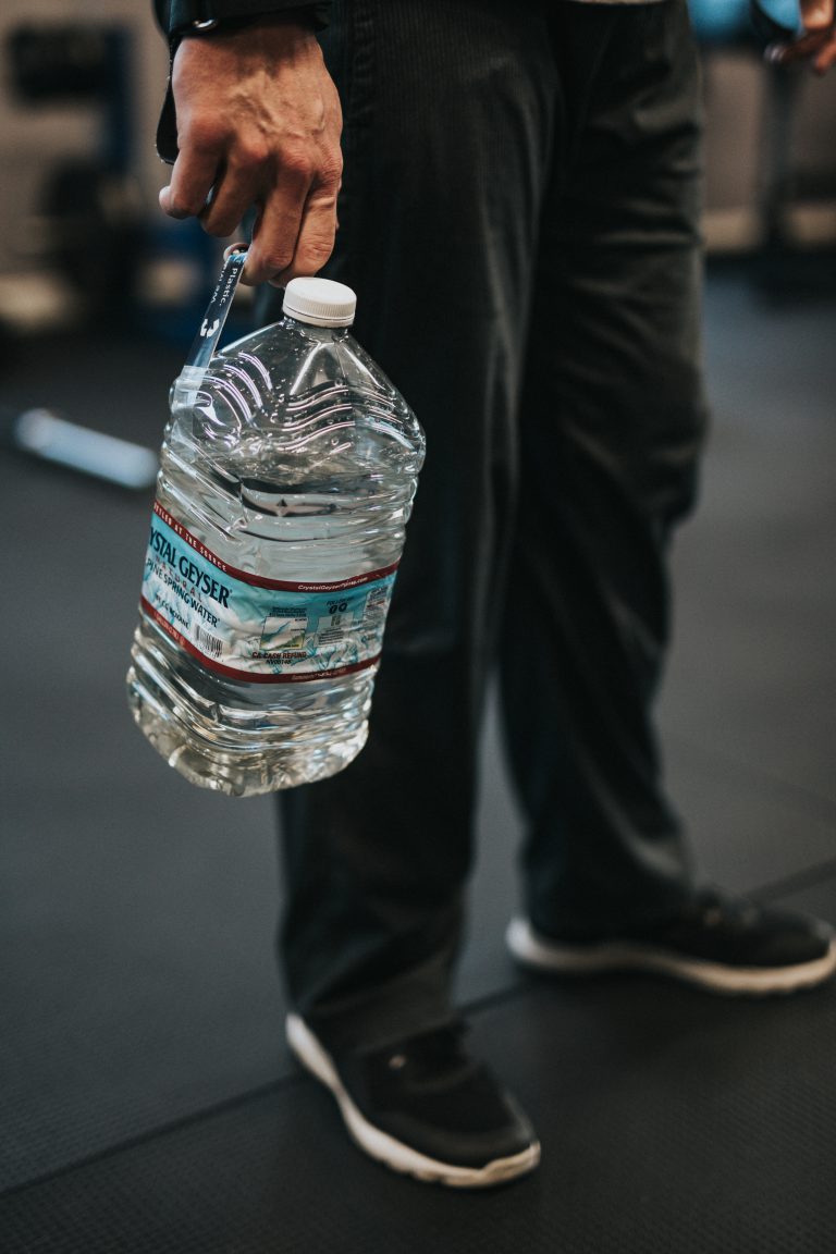
[[[128,695],[172,766],[233,796],[333,775],[367,736],[424,435],[355,303],[293,280],[280,322],[172,389]]]

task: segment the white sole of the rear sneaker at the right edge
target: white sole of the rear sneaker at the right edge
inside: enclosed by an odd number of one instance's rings
[[[673,951],[619,940],[570,946],[539,935],[528,919],[511,919],[505,935],[514,958],[534,971],[564,976],[595,976],[607,972],[639,971],[709,988],[717,993],[792,993],[822,983],[836,971],[836,938],[827,953],[793,967],[727,967],[698,958],[683,958]]]

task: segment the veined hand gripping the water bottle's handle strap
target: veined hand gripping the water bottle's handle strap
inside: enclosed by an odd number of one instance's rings
[[[244,281],[316,273],[333,248],[342,114],[312,30],[276,18],[184,39],[172,89],[179,155],[159,193],[165,213],[228,236],[254,207]]]

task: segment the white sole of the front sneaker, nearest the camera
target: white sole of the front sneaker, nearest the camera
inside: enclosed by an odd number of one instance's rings
[[[531,1171],[540,1161],[540,1146],[536,1141],[521,1154],[496,1159],[484,1167],[460,1167],[449,1162],[439,1162],[410,1149],[409,1145],[404,1145],[394,1136],[375,1127],[361,1114],[343,1087],[331,1057],[298,1014],[287,1016],[286,1032],[291,1050],[306,1071],[316,1076],[336,1097],[353,1141],[372,1159],[386,1164],[394,1171],[415,1176],[417,1180],[445,1184],[457,1189],[488,1189]]]

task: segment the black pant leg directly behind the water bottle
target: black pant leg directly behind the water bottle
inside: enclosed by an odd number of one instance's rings
[[[540,4],[353,0],[328,39],[346,129],[326,273],[427,435],[368,742],[281,799],[287,984],[335,1043],[450,1016],[556,84]]]

